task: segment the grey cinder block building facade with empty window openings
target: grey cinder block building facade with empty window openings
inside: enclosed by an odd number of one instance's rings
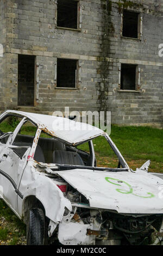
[[[68,106],[162,126],[162,0],[0,3],[1,111]]]

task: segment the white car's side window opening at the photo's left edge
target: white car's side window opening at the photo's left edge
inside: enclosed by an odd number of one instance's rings
[[[21,117],[17,117],[16,115],[7,115],[0,121],[0,136],[4,135],[8,132],[14,132],[17,125],[22,120]],[[0,142],[6,144],[10,135],[3,137],[0,139]]]

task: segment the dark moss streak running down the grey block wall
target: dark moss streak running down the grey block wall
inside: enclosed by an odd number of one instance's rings
[[[112,7],[116,7],[121,13],[122,9],[142,8],[143,5],[130,0],[118,0],[116,3],[111,0],[102,0],[103,9],[103,35],[101,44],[101,56],[97,58],[101,65],[98,74],[101,74],[102,81],[97,83],[99,111],[107,111],[107,101],[109,92],[109,71],[112,63],[108,61],[110,56],[110,38],[114,35],[114,26],[111,19]]]

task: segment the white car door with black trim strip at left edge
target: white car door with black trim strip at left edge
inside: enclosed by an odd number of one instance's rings
[[[6,117],[2,121],[0,120],[1,135],[2,133],[4,134],[7,129],[16,131],[15,127],[13,127],[13,129],[10,127],[7,118],[10,117]],[[19,120],[19,125],[21,120]],[[17,196],[22,197],[22,194],[18,191],[18,184],[21,179],[23,168],[26,166],[27,158],[25,157],[21,159],[12,148],[11,142],[11,136],[7,139],[0,139],[0,193],[2,193],[2,197],[10,208],[16,211]]]

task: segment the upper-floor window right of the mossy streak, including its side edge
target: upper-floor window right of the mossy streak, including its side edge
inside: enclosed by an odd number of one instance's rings
[[[123,10],[121,32],[122,36],[127,38],[140,39],[142,33],[142,19],[139,18],[139,13],[135,13],[134,11]]]

